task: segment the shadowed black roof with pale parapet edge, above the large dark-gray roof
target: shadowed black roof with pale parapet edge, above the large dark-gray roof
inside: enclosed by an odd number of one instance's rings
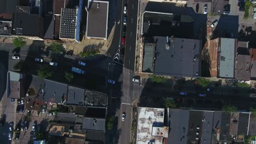
[[[194,19],[189,15],[145,11],[142,20],[143,35],[173,35],[179,38],[193,37]]]

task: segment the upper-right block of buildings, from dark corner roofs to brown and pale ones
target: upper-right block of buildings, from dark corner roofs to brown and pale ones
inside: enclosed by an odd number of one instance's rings
[[[194,37],[197,34],[193,31],[195,24],[196,19],[190,15],[144,11],[141,22],[143,51],[139,71],[156,75],[200,77],[203,69],[203,73],[209,71],[207,75],[211,77],[255,79],[256,49],[250,49],[248,41],[214,38],[210,43],[206,41],[207,51],[202,52],[201,38]],[[202,68],[202,61],[208,63],[207,68]]]

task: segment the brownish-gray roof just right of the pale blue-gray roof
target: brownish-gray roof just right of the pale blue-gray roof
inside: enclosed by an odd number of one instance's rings
[[[251,56],[237,55],[236,76],[238,80],[250,80]]]

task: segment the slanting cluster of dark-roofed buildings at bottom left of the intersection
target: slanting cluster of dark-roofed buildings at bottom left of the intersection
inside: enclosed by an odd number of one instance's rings
[[[50,142],[64,135],[82,141],[79,143],[105,141],[108,97],[104,93],[8,71],[7,98],[24,99],[26,110],[38,116],[43,107],[48,111],[63,109],[48,129]]]

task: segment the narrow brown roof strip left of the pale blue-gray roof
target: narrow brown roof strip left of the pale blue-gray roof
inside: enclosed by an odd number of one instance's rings
[[[211,76],[217,76],[218,68],[218,47],[219,39],[213,39],[210,41],[210,74]]]

